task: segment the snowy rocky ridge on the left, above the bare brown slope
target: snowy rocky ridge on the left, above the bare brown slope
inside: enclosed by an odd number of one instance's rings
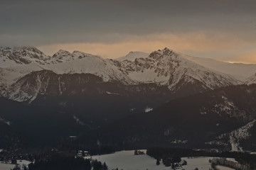
[[[112,60],[96,55],[59,50],[49,57],[35,47],[0,47],[0,86],[9,86],[26,74],[43,69],[57,74],[90,73],[105,81],[133,84]]]

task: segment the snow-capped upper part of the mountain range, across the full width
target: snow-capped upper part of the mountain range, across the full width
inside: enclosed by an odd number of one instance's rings
[[[189,57],[168,48],[151,52],[150,55],[145,52],[129,52],[125,57],[110,60],[79,51],[70,53],[59,50],[50,57],[35,47],[0,47],[0,61],[0,94],[17,101],[36,98],[38,91],[42,91],[35,90],[28,94],[18,84],[23,77],[32,77],[31,73],[43,70],[55,74],[94,74],[105,82],[125,85],[153,83],[168,86],[174,94],[184,95],[242,84],[239,74],[231,75],[236,65],[233,67],[224,62]],[[213,62],[213,66],[210,62]],[[229,69],[220,69],[221,65],[229,66]],[[247,74],[242,74],[244,77],[251,76],[256,69],[254,64],[238,64],[238,67],[246,68]],[[42,81],[33,80],[37,78],[29,80]]]

